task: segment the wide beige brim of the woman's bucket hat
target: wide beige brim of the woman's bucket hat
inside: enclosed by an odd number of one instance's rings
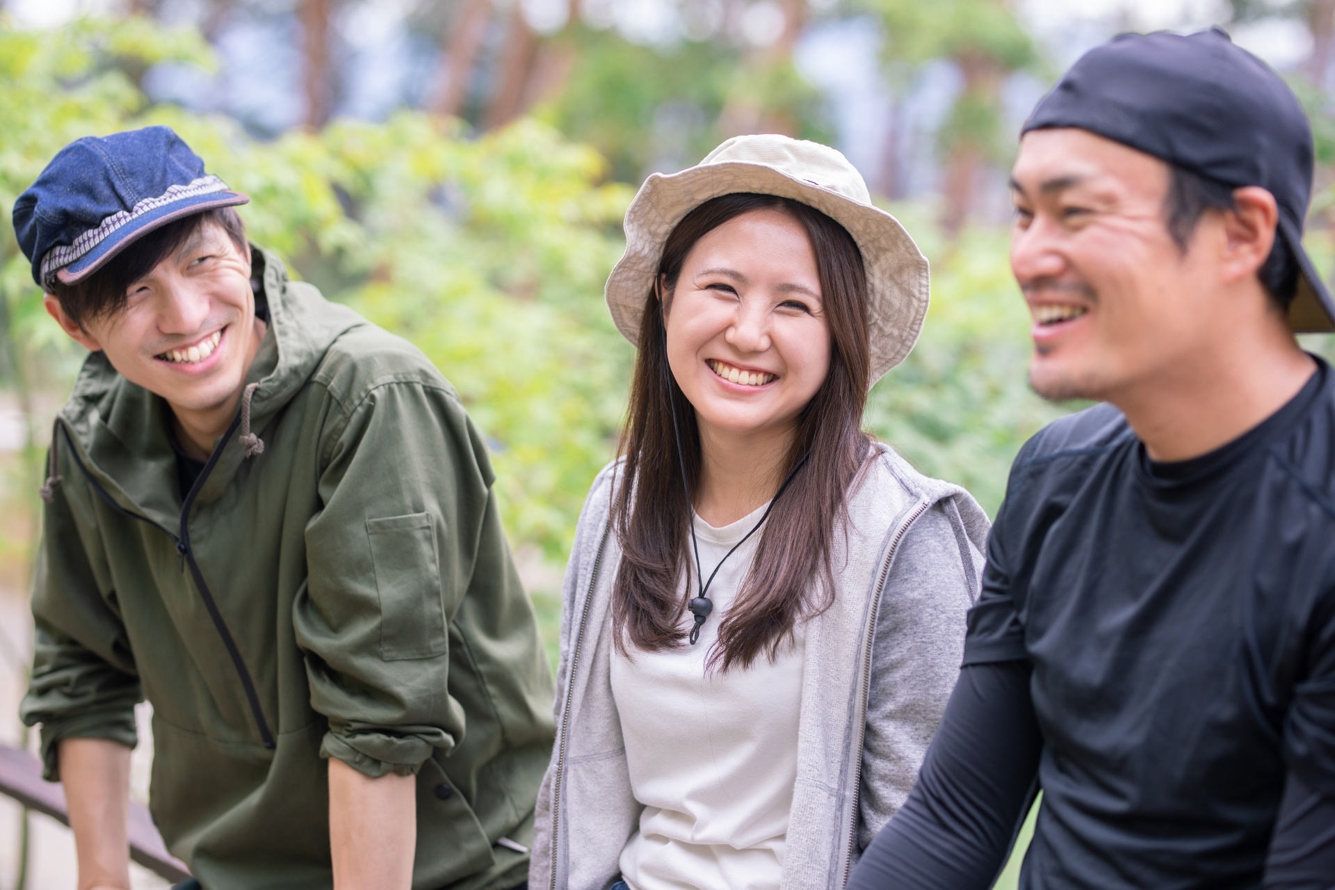
[[[639,320],[653,291],[662,250],[677,224],[705,201],[737,192],[790,197],[844,227],[862,254],[868,284],[868,346],[876,383],[917,343],[926,318],[926,258],[897,219],[768,164],[724,161],[680,173],[653,173],[626,211],[626,252],[607,278],[605,298],[622,336],[639,344]]]

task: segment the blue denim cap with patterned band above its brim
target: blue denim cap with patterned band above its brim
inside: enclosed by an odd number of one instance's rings
[[[250,197],[204,172],[170,127],[85,136],[61,148],[13,203],[13,231],[45,291],[75,284],[148,232]]]

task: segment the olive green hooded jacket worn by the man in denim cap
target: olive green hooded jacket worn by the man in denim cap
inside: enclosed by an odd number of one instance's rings
[[[327,757],[417,775],[415,889],[511,887],[553,683],[486,448],[421,352],[254,256],[259,386],[190,492],[100,352],[61,408],[23,718],[55,779],[147,698],[150,809],[207,890],[330,887]]]

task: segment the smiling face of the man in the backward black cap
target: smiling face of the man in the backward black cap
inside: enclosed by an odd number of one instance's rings
[[[1211,311],[1208,251],[1168,232],[1161,160],[1083,129],[1024,136],[1012,169],[1011,268],[1033,318],[1029,383],[1116,399],[1189,356]]]

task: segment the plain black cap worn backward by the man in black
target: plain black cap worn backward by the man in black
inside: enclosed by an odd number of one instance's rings
[[[1222,28],[1125,33],[1095,47],[1044,96],[1023,133],[1075,127],[1279,205],[1276,238],[1298,260],[1296,332],[1335,331],[1335,302],[1303,250],[1312,128],[1298,96]]]

